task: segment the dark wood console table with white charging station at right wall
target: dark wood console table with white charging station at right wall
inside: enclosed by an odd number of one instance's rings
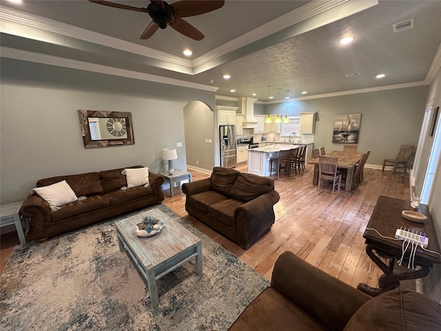
[[[415,254],[414,265],[416,268],[414,270],[410,268],[406,272],[393,271],[395,260],[400,259],[402,256],[403,242],[401,240],[383,238],[380,234],[384,237],[394,238],[396,230],[401,227],[406,228],[406,230],[410,229],[409,231],[418,232],[418,234],[422,232],[422,234],[425,233],[426,237],[429,238],[429,245],[426,249],[438,253],[441,252],[428,206],[420,203],[417,210],[427,216],[424,223],[416,223],[404,219],[401,215],[402,210],[412,210],[410,201],[380,196],[363,234],[363,237],[366,239],[366,252],[368,256],[384,272],[378,279],[378,288],[371,288],[364,283],[360,283],[357,286],[358,290],[372,297],[398,287],[400,280],[426,277],[433,263],[441,263],[440,255],[418,248]],[[377,230],[380,234],[371,229]],[[403,265],[408,265],[410,252],[411,245],[409,245],[404,254]],[[389,263],[384,263],[379,257],[389,259]]]

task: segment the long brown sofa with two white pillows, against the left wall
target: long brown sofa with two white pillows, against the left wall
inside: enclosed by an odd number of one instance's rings
[[[142,168],[136,165],[127,168]],[[85,197],[61,206],[51,212],[49,204],[37,194],[30,194],[23,201],[19,214],[25,220],[26,241],[52,237],[99,221],[132,212],[148,205],[161,203],[164,194],[161,184],[164,177],[149,172],[150,187],[127,188],[124,168],[88,172],[68,176],[51,177],[37,181],[37,188],[65,180],[76,197]]]

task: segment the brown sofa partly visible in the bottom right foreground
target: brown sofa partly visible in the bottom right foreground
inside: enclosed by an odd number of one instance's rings
[[[441,305],[405,288],[371,298],[284,252],[274,265],[271,286],[229,328],[264,330],[439,331]]]

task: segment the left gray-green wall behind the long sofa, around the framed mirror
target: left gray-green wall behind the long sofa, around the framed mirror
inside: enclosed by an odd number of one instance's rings
[[[1,203],[46,177],[136,164],[164,171],[162,149],[178,141],[174,168],[185,169],[183,108],[214,108],[214,92],[4,58],[0,96]],[[134,146],[85,150],[77,110],[132,112]]]

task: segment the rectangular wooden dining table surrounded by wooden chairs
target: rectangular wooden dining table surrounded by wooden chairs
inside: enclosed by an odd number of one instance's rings
[[[333,150],[332,152],[326,153],[326,157],[337,157],[337,168],[346,169],[346,183],[345,191],[352,190],[352,179],[353,172],[356,168],[357,163],[360,161],[363,153],[358,152],[343,152],[342,150]],[[312,183],[314,185],[318,184],[318,157],[316,159],[311,159],[307,163],[314,164],[314,177],[312,178]]]

